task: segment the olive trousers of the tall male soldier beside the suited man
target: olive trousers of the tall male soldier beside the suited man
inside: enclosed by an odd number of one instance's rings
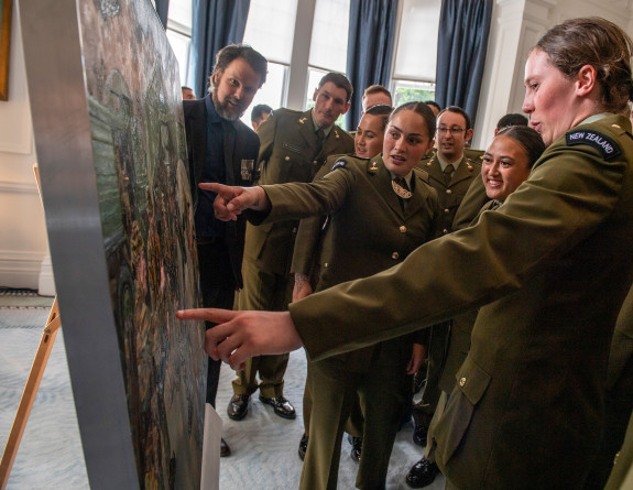
[[[242,262],[244,288],[238,296],[239,309],[283,312],[287,309],[294,282],[288,275],[264,271],[248,257]],[[283,396],[288,355],[257,356],[245,362],[233,380],[236,394],[253,394],[258,388],[265,398]],[[260,373],[260,381],[257,374]]]

